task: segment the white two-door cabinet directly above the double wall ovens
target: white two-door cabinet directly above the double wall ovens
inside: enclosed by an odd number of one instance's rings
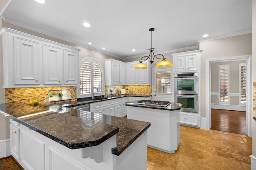
[[[175,72],[198,70],[202,50],[172,54]]]

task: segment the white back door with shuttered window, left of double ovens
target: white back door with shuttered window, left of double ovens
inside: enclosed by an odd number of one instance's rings
[[[172,67],[152,68],[152,99],[174,102]]]

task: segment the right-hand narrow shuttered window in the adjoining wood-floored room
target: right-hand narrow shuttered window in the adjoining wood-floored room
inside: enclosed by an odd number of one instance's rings
[[[240,105],[246,104],[246,63],[239,64]]]

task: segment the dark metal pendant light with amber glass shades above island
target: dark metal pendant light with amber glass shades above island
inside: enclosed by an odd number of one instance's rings
[[[142,63],[143,61],[146,61],[147,59],[149,59],[149,62],[152,64],[154,63],[154,58],[156,56],[162,56],[163,58],[158,58],[156,57],[157,59],[162,59],[162,61],[160,61],[159,63],[156,64],[156,67],[169,67],[169,66],[172,66],[172,63],[170,61],[166,61],[164,58],[164,56],[162,54],[157,54],[157,55],[154,55],[154,48],[152,48],[152,31],[154,31],[155,29],[154,28],[150,28],[149,31],[151,31],[151,48],[149,49],[149,55],[148,56],[144,56],[146,57],[145,60],[142,60],[144,57],[142,57],[140,59],[140,63],[136,64],[133,68],[136,68],[136,69],[145,69],[145,68],[148,68],[148,66],[144,63]],[[150,55],[151,55],[151,58],[150,58]],[[154,55],[154,57],[152,56]],[[152,58],[153,57],[153,58]]]

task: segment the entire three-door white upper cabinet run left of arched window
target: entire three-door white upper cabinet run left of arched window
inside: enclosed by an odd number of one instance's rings
[[[4,88],[78,86],[79,49],[2,28]]]

